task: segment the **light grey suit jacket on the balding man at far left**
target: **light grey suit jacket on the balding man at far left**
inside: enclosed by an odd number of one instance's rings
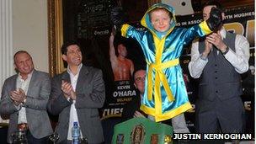
[[[14,106],[10,98],[10,91],[16,89],[18,74],[8,77],[3,84],[2,98],[0,101],[0,114],[8,115],[8,142],[11,143],[14,131],[18,131],[19,109]],[[49,74],[34,70],[24,104],[29,131],[35,138],[49,136],[52,133],[51,122],[46,111],[46,104],[51,92],[51,79]]]

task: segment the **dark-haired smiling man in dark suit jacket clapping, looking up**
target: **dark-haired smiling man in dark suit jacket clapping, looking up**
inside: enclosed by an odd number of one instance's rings
[[[72,125],[77,122],[84,141],[102,143],[104,136],[98,110],[105,99],[102,72],[82,64],[80,45],[75,41],[62,45],[61,54],[67,61],[67,71],[53,77],[47,104],[52,115],[59,115],[56,133],[60,139],[57,142],[71,143]]]

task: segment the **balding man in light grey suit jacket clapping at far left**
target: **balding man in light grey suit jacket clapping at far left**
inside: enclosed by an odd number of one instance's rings
[[[28,143],[45,144],[52,133],[46,111],[51,79],[47,73],[34,69],[27,51],[16,52],[13,59],[19,73],[5,80],[0,101],[1,115],[10,119],[8,143],[13,143],[15,131],[27,131]]]

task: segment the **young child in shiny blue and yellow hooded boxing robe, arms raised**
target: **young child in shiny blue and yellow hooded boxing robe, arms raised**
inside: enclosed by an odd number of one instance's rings
[[[210,34],[221,23],[221,13],[211,10],[210,19],[189,29],[176,28],[174,8],[157,3],[141,19],[146,31],[121,24],[121,35],[139,42],[147,61],[145,93],[141,109],[156,121],[168,120],[191,109],[179,65],[184,45],[196,36]],[[115,15],[115,13],[114,13]],[[114,18],[114,19],[113,19]],[[117,17],[118,18],[118,17]],[[112,13],[115,24],[115,16]]]

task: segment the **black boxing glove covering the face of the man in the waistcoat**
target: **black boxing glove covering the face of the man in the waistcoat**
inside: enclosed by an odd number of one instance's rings
[[[211,29],[211,31],[215,31],[218,29],[222,23],[222,15],[221,10],[215,7],[211,8],[210,18],[206,20],[206,23]]]

